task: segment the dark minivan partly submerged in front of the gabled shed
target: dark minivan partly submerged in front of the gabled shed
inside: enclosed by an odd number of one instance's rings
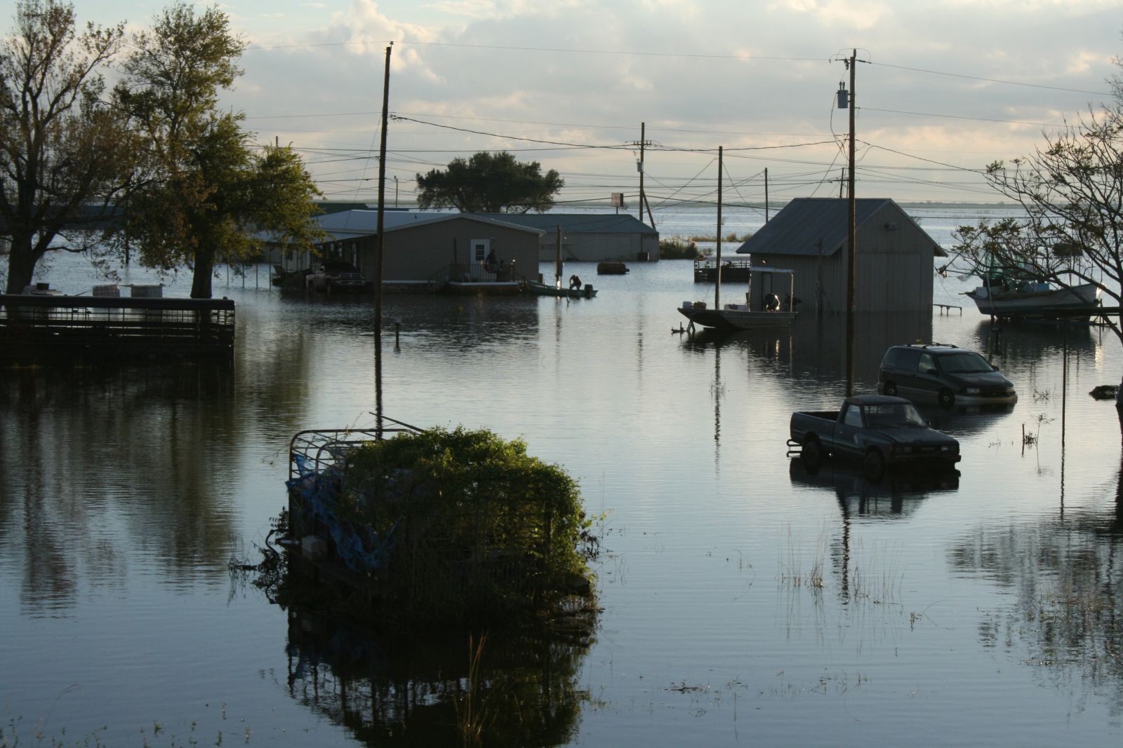
[[[894,345],[885,352],[877,391],[943,407],[1016,403],[1014,385],[975,351],[943,343]]]

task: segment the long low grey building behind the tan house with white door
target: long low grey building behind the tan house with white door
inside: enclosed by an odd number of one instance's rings
[[[562,260],[566,262],[656,262],[659,232],[634,215],[615,213],[483,213],[542,232],[538,259],[553,262],[558,253],[560,227]]]

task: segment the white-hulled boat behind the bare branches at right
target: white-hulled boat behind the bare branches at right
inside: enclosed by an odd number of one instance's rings
[[[979,312],[995,317],[1063,315],[1071,318],[1079,316],[1080,312],[1092,316],[1101,305],[1103,289],[1094,283],[1060,286],[1008,270],[989,270],[978,275],[983,285],[964,292],[964,295],[975,302]]]

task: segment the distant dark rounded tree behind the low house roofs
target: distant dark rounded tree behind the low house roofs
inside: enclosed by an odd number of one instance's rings
[[[555,169],[545,175],[538,161],[520,164],[503,151],[454,158],[444,172],[417,175],[418,206],[455,207],[462,213],[544,213],[565,186]]]

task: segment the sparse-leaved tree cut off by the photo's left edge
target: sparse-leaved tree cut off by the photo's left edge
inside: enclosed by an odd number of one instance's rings
[[[120,116],[101,105],[99,68],[118,50],[124,26],[75,28],[74,8],[55,0],[16,4],[0,44],[0,236],[11,242],[8,293],[71,229],[89,228],[120,187],[134,153]],[[102,211],[91,210],[100,205]],[[89,238],[75,231],[72,239]],[[73,243],[70,244],[73,248]]]

